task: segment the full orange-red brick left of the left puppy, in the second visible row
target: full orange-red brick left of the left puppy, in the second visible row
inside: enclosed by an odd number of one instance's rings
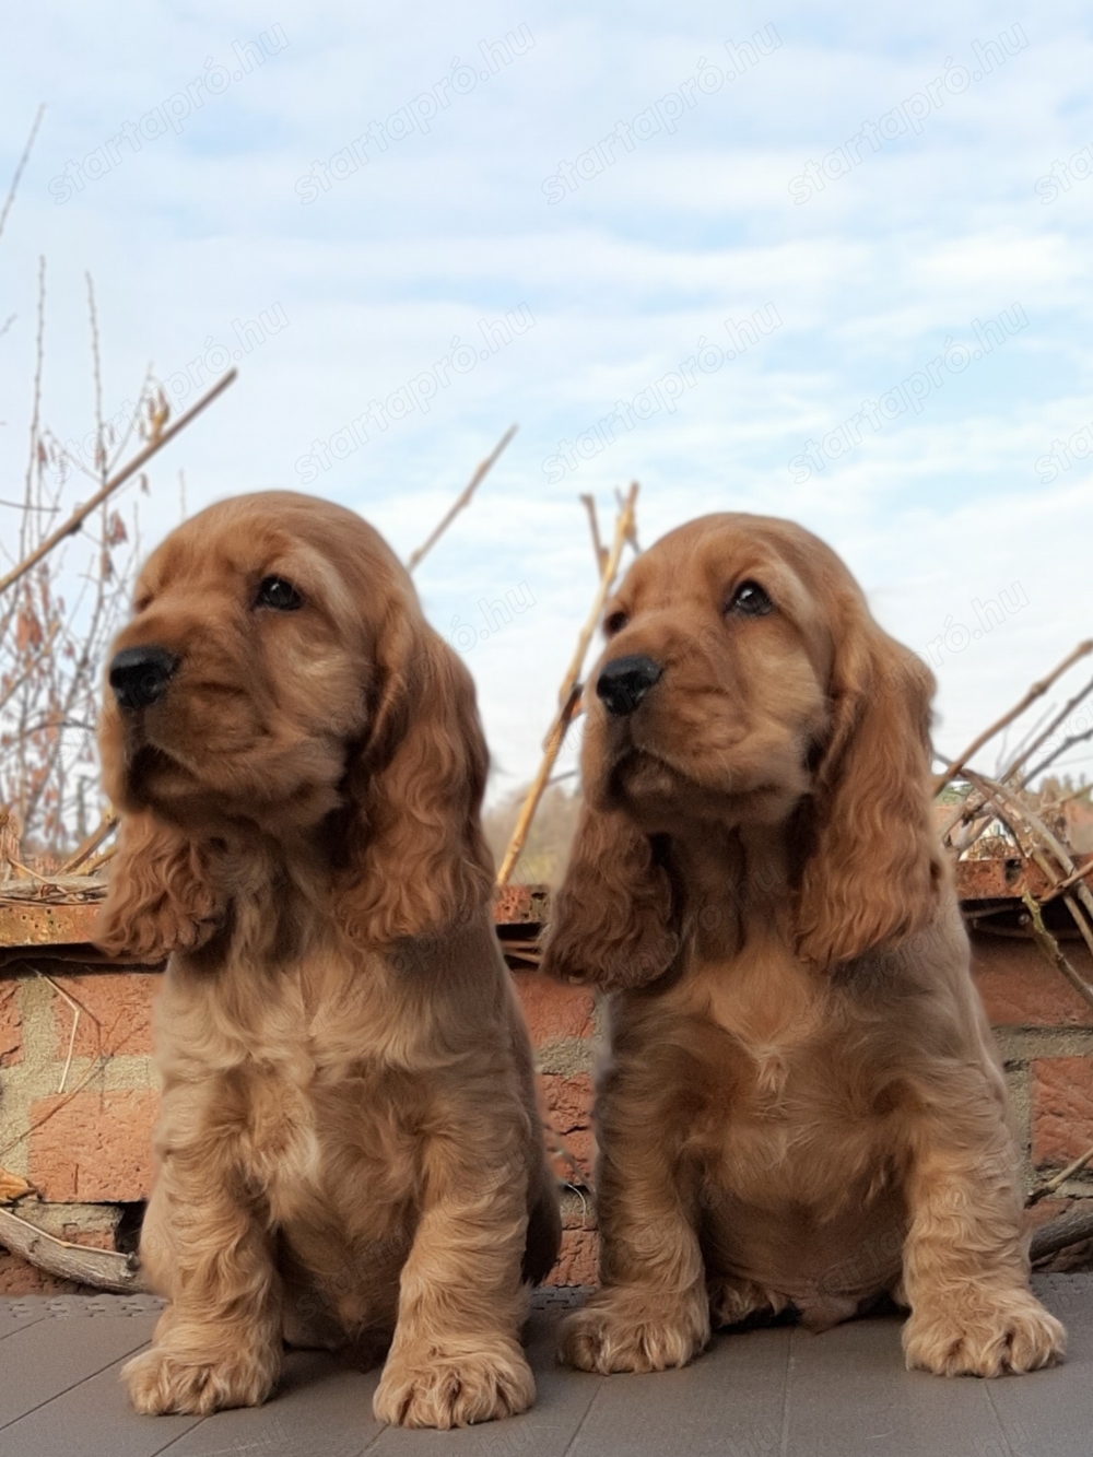
[[[146,1199],[157,1110],[152,1088],[39,1099],[31,1107],[31,1182],[42,1199],[66,1203]]]

